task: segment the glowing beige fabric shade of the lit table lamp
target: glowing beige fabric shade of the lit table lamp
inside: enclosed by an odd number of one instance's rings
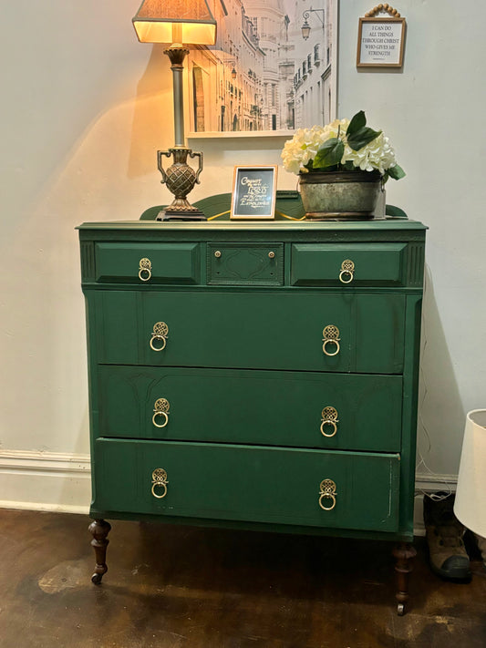
[[[140,43],[216,42],[216,21],[206,0],[144,0],[132,22]]]

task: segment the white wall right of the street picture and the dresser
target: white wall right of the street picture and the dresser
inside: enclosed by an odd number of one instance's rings
[[[408,175],[388,183],[387,200],[429,225],[419,449],[435,473],[455,475],[465,413],[486,407],[486,6],[400,0],[403,70],[358,72],[358,16],[371,5],[340,5],[338,113],[362,108],[389,135]]]

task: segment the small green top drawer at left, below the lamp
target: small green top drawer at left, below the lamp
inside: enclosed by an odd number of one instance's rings
[[[97,282],[200,282],[199,243],[96,243]]]

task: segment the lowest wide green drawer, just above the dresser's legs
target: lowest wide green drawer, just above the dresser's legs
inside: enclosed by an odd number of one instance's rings
[[[394,454],[101,438],[94,476],[104,515],[398,529]]]

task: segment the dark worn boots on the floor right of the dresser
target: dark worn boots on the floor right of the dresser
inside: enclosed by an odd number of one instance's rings
[[[470,557],[464,546],[465,528],[454,515],[455,495],[437,493],[440,499],[424,496],[424,522],[432,571],[452,581],[470,578]],[[475,536],[486,565],[486,540]]]

